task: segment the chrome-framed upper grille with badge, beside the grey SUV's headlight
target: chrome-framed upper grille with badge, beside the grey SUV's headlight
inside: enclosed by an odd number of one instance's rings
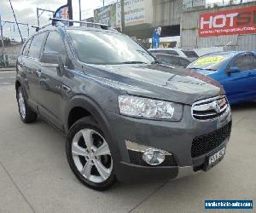
[[[221,95],[195,102],[192,106],[192,116],[197,120],[210,120],[218,118],[229,109],[229,103],[225,95]]]

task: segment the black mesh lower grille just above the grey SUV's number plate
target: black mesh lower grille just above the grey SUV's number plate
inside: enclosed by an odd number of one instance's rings
[[[227,138],[229,138],[231,133],[231,125],[232,124],[230,122],[229,124],[224,125],[224,127],[209,134],[195,137],[191,147],[192,158],[209,153]]]

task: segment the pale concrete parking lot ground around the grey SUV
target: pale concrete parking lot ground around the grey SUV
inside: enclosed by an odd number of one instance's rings
[[[14,71],[0,71],[0,212],[204,212],[205,199],[255,202],[256,101],[232,107],[226,156],[207,173],[117,183],[101,193],[73,176],[59,131],[41,118],[22,124],[14,76]]]

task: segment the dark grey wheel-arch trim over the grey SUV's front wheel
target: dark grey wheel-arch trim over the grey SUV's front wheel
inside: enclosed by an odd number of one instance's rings
[[[112,151],[112,156],[114,161],[119,161],[121,159],[120,151],[119,151],[119,145],[117,141],[115,141],[115,137],[113,136],[113,131],[111,126],[108,124],[108,119],[102,110],[102,108],[95,102],[92,101],[89,97],[86,97],[84,95],[76,95],[73,96],[73,98],[68,102],[67,108],[65,111],[65,132],[68,132],[68,116],[71,110],[74,107],[82,107],[86,111],[90,112],[93,118],[96,119],[96,122],[104,132],[104,136],[106,137],[106,140],[108,141],[108,145]]]

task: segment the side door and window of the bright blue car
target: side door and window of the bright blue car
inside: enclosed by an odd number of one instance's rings
[[[230,101],[246,101],[256,97],[256,59],[253,54],[239,55],[230,62],[230,67],[237,67],[241,72],[227,74],[222,82]]]

